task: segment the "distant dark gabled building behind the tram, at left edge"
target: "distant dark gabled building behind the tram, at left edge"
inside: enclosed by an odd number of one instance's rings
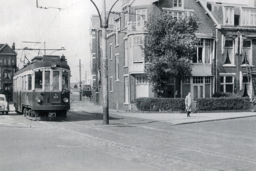
[[[0,90],[13,89],[13,74],[17,69],[15,43],[10,47],[7,43],[0,44]]]

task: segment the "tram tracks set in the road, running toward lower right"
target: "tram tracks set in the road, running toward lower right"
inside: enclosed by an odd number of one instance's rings
[[[90,116],[90,117],[93,118],[93,116]],[[98,119],[98,117],[96,117],[96,118]],[[45,122],[41,122],[41,123],[47,124]],[[87,125],[81,125],[81,124],[78,124],[78,123],[75,123],[75,122],[69,122],[69,121],[64,121],[64,123],[67,123],[68,125],[71,124],[71,125],[74,126],[74,127],[71,126],[71,128],[76,128],[76,129],[71,130],[71,129],[64,128],[63,124],[61,126],[58,125],[58,124],[57,125],[47,124],[47,125],[49,125],[53,128],[58,128],[58,129],[63,130],[63,131],[68,131],[68,132],[76,134],[78,136],[83,136],[83,137],[89,138],[89,139],[91,139],[90,140],[91,142],[97,142],[99,144],[106,143],[106,144],[108,144],[108,146],[110,146],[110,148],[115,146],[115,147],[117,147],[117,148],[115,148],[117,150],[118,149],[126,149],[126,150],[128,149],[128,151],[131,151],[132,153],[135,153],[138,156],[140,156],[140,160],[143,157],[146,157],[147,159],[150,158],[149,160],[157,162],[157,163],[155,163],[156,165],[163,166],[162,162],[165,161],[164,162],[165,163],[164,164],[165,168],[169,168],[168,161],[170,163],[175,163],[174,160],[176,160],[176,162],[177,161],[187,162],[187,163],[190,163],[192,165],[196,165],[195,167],[205,167],[205,168],[211,168],[211,169],[215,169],[215,170],[230,170],[230,169],[226,169],[226,168],[221,168],[220,166],[216,166],[216,165],[212,165],[212,164],[206,164],[205,162],[198,162],[198,161],[195,161],[193,159],[189,159],[187,157],[182,157],[182,156],[178,155],[177,153],[176,153],[177,155],[175,155],[175,154],[172,155],[172,153],[168,154],[168,153],[163,153],[161,151],[157,152],[157,151],[154,151],[154,149],[151,150],[150,148],[134,146],[133,143],[131,143],[131,145],[129,145],[129,144],[125,143],[125,141],[126,140],[128,141],[129,139],[133,139],[133,142],[144,142],[144,143],[146,142],[146,143],[152,144],[152,145],[157,144],[158,146],[162,146],[162,147],[166,146],[168,148],[176,149],[176,151],[183,151],[183,152],[187,151],[188,154],[200,154],[201,156],[207,156],[207,157],[210,156],[211,158],[222,158],[222,159],[231,160],[231,161],[235,160],[237,162],[247,162],[247,163],[251,163],[253,165],[256,164],[256,161],[253,160],[253,159],[250,159],[250,158],[237,157],[237,156],[232,156],[232,155],[224,155],[224,154],[218,153],[218,152],[212,152],[212,151],[202,150],[202,149],[199,149],[199,148],[187,147],[187,146],[184,146],[184,145],[177,145],[177,144],[169,143],[169,142],[166,142],[166,141],[161,141],[161,140],[159,141],[159,140],[156,140],[156,139],[150,139],[150,138],[135,136],[135,135],[126,134],[126,133],[120,133],[120,132],[115,131],[115,130],[106,129],[105,127],[104,128],[99,128],[99,127],[93,128],[93,127],[90,127],[90,126],[87,126]],[[123,139],[123,141],[117,141],[115,139],[111,140],[111,139],[107,139],[107,138],[92,136],[92,135],[87,134],[87,133],[81,133],[81,132],[77,131],[78,127],[98,131],[98,132],[101,132],[103,134],[109,134],[109,135],[112,134],[114,136],[119,137],[118,139]],[[117,127],[117,125],[116,125],[116,127]],[[140,125],[138,125],[136,127],[137,128],[148,129],[145,126],[140,126]],[[150,129],[154,130],[154,131],[161,131],[162,133],[168,133],[168,134],[175,133],[173,131],[170,132],[168,130],[162,130],[162,129],[157,129],[157,128],[153,128],[153,129],[150,128]],[[182,136],[187,136],[186,133],[178,133],[178,134],[181,134]],[[203,138],[203,136],[198,136],[198,135],[195,138],[198,138],[198,137]],[[210,138],[210,137],[204,137],[204,138]],[[154,159],[155,157],[158,158],[158,160],[155,160]],[[177,162],[177,163],[179,163],[179,162]],[[204,170],[204,169],[202,169],[202,170]]]

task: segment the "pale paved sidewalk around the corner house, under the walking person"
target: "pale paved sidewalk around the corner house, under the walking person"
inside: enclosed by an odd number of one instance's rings
[[[84,97],[82,100],[74,100],[70,103],[70,111],[79,110],[88,113],[103,113],[102,106],[89,103]],[[186,117],[186,113],[129,113],[124,111],[116,111],[109,109],[109,116],[122,116],[125,120],[122,120],[122,124],[131,124],[135,120],[138,122],[150,123],[150,122],[165,122],[169,126],[181,125],[189,123],[210,122],[224,119],[236,119],[256,116],[255,112],[230,112],[230,113],[190,113],[191,117]],[[130,118],[130,120],[128,119]],[[131,119],[134,118],[134,119]],[[131,121],[133,120],[133,121]],[[126,123],[124,123],[124,121]],[[118,120],[115,120],[118,122]],[[121,122],[121,121],[120,121]]]

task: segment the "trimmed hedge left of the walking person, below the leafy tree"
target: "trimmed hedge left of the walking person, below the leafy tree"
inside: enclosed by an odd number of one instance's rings
[[[184,98],[150,98],[136,100],[138,110],[145,111],[185,111]]]

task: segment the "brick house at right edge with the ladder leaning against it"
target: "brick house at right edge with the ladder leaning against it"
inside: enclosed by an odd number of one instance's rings
[[[216,91],[254,97],[256,1],[242,5],[199,1],[216,28]]]

